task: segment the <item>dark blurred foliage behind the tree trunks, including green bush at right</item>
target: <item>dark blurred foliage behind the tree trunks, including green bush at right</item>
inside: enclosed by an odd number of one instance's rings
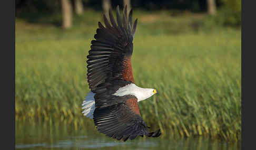
[[[74,6],[74,0],[71,0]],[[83,0],[84,7],[101,10],[102,1]],[[206,12],[206,0],[131,0],[132,7],[145,10],[172,9],[173,15],[182,10]],[[122,6],[123,1],[111,0],[112,7]],[[216,0],[217,15],[212,17],[215,25],[241,26],[241,1]],[[176,13],[175,13],[176,12]],[[53,15],[54,14],[54,15]],[[24,18],[31,23],[50,23],[61,25],[61,0],[17,0],[16,17]]]

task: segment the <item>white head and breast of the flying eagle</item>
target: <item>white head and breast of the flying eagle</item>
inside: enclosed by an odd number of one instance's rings
[[[134,95],[137,98],[137,101],[139,102],[147,98],[150,98],[154,94],[153,90],[154,89],[140,88],[137,87],[137,85],[131,83],[118,89],[113,95],[118,97],[123,97],[124,95]]]

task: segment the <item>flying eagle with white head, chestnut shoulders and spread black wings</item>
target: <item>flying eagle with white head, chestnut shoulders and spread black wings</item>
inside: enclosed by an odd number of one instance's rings
[[[127,6],[121,21],[119,6],[116,20],[109,10],[110,25],[104,15],[105,27],[99,22],[87,56],[87,81],[91,91],[83,101],[86,117],[94,120],[97,130],[109,137],[126,141],[136,136],[158,137],[160,130],[147,131],[138,102],[152,97],[155,89],[137,87],[134,83],[131,57],[137,19],[132,26],[132,10],[127,19]],[[148,127],[149,128],[149,127]]]

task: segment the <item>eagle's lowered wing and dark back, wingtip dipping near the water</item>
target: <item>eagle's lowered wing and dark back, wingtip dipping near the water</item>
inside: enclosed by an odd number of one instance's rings
[[[123,86],[130,84],[129,81],[114,81]],[[146,135],[158,137],[160,130],[156,132],[147,131],[147,126],[143,121],[137,99],[133,95],[117,97],[112,93],[117,89],[117,85],[110,82],[103,83],[95,91],[95,106],[93,120],[94,124],[101,133],[117,140],[126,141],[128,138],[133,140],[136,136]]]

